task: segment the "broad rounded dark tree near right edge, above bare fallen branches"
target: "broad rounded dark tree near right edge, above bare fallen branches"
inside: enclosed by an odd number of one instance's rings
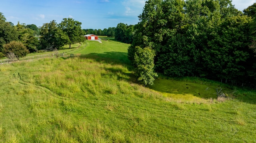
[[[232,16],[211,33],[212,38],[208,41],[210,48],[204,49],[202,59],[212,76],[227,82],[246,75],[250,58],[249,23],[247,16]]]

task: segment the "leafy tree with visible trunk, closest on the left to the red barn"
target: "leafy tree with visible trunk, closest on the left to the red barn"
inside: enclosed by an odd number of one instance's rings
[[[68,36],[67,44],[71,48],[71,44],[83,42],[85,39],[84,31],[81,29],[81,22],[75,21],[72,18],[64,18],[58,27]]]

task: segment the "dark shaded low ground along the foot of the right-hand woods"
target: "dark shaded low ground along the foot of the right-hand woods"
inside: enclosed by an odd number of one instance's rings
[[[148,87],[153,90],[166,93],[166,96],[169,96],[170,98],[183,98],[186,100],[192,99],[193,97],[217,99],[216,88],[218,87],[207,84],[178,80],[156,79],[154,81],[154,85]],[[236,99],[238,101],[249,104],[256,104],[256,96],[254,95],[256,93],[255,91],[242,89],[235,90],[228,87],[222,87],[222,91],[232,99]],[[240,91],[243,92],[240,93]]]

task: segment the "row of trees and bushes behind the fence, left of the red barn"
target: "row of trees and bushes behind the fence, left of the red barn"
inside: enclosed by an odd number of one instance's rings
[[[0,13],[0,58],[19,59],[28,53],[59,49],[64,45],[85,41],[81,22],[64,18],[60,24],[55,20],[41,27],[34,24],[12,24]]]

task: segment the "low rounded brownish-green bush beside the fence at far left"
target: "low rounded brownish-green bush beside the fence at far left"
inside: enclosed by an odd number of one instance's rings
[[[25,57],[29,53],[28,49],[20,41],[12,41],[3,45],[3,53],[5,56],[11,52],[14,53],[18,59]]]

